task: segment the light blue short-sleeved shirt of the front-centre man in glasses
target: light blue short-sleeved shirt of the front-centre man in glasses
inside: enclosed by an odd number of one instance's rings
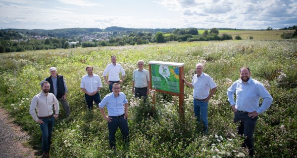
[[[120,92],[117,97],[111,92],[105,95],[98,105],[99,108],[103,108],[106,105],[108,116],[116,117],[125,114],[124,105],[127,103],[126,95],[123,92]]]

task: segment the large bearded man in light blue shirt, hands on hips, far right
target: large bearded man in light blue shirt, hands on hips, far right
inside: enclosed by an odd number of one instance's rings
[[[246,136],[244,147],[247,147],[248,154],[253,157],[253,131],[258,115],[264,113],[272,103],[272,97],[265,87],[257,80],[251,79],[251,72],[248,67],[240,69],[240,79],[235,81],[227,91],[228,101],[234,112],[234,122],[240,122],[238,134]],[[234,102],[236,93],[236,102]],[[259,107],[260,97],[263,98]]]

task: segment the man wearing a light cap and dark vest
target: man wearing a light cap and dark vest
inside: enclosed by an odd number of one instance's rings
[[[67,85],[65,79],[62,75],[57,74],[57,69],[55,67],[49,68],[50,76],[44,81],[48,81],[50,84],[49,93],[53,93],[58,101],[63,105],[66,113],[66,118],[70,115],[70,107],[67,101]],[[42,83],[41,82],[41,83]]]

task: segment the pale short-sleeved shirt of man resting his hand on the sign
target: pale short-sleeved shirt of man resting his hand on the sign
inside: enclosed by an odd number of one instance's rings
[[[199,77],[196,75],[193,76],[192,79],[193,85],[193,95],[195,99],[205,99],[209,95],[209,89],[215,88],[217,85],[213,81],[213,79],[202,73]]]

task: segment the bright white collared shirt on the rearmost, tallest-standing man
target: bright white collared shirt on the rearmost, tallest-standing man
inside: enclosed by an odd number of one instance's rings
[[[122,73],[122,76],[125,76],[125,71],[120,64],[113,65],[108,64],[103,72],[103,76],[108,74],[108,80],[110,81],[118,81],[120,80],[119,73]]]

